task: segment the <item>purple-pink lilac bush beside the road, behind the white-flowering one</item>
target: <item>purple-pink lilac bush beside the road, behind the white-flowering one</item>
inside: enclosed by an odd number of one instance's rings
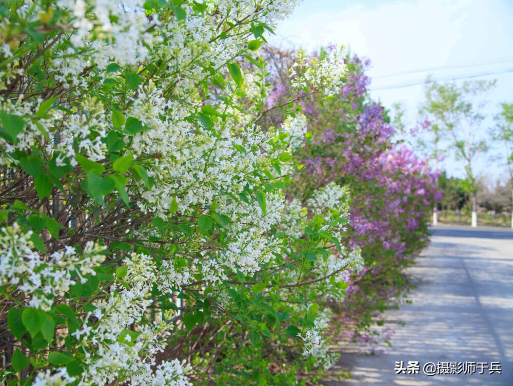
[[[332,49],[305,60],[323,60]],[[294,59],[304,54],[277,50],[267,54],[279,68],[273,74],[277,86],[268,102],[279,105],[291,96],[289,83],[281,81],[283,73],[293,72]],[[427,242],[429,208],[440,199],[439,173],[430,168],[428,159],[419,159],[394,139],[396,131],[387,112],[369,96],[370,79],[365,75],[369,61],[349,55],[345,61],[348,73],[337,97],[319,101],[305,94],[296,102],[296,109],[308,121],[312,140],[299,155],[307,173],[295,179],[288,196],[304,201],[332,183],[349,189],[348,245],[361,248],[365,267],[345,277],[345,301],[330,304],[338,313],[339,323],[333,326],[374,345],[387,340],[390,330],[381,329],[383,336],[379,337],[380,329],[372,326],[381,326],[380,313],[397,307],[409,289],[404,268]],[[279,125],[280,119],[281,113],[270,116],[267,124]]]

